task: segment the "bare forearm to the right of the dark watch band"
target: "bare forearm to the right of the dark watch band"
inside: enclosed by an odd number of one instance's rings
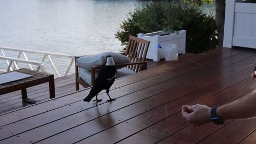
[[[249,93],[229,104],[220,106],[217,115],[224,119],[256,117],[256,93]]]

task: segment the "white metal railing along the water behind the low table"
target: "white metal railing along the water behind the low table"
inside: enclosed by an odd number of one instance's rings
[[[4,53],[5,50],[19,52],[18,58],[5,56],[5,53]],[[64,54],[60,54],[60,53],[15,49],[15,48],[11,48],[11,47],[0,47],[0,51],[1,51],[1,54],[2,54],[2,56],[0,56],[0,59],[4,60],[7,63],[7,70],[6,71],[12,71],[12,70],[15,70],[15,69],[19,69],[19,67],[18,67],[18,62],[19,62],[19,63],[28,64],[28,67],[31,70],[34,70],[32,65],[36,65],[37,66],[37,68],[36,68],[37,71],[41,70],[41,71],[47,73],[47,70],[46,70],[46,67],[45,67],[45,64],[44,64],[45,59],[47,58],[50,62],[51,67],[54,69],[55,76],[61,77],[61,76],[68,75],[69,71],[71,70],[71,66],[74,62],[74,56],[64,55]],[[28,60],[27,55],[26,55],[25,52],[26,53],[32,53],[33,55],[34,54],[43,55],[43,59],[42,59],[42,61],[30,61],[30,60]],[[24,59],[22,59],[21,56],[23,56]],[[67,68],[64,75],[60,75],[59,71],[55,67],[55,64],[54,64],[53,59],[51,58],[51,56],[55,56],[55,57],[59,57],[59,58],[71,58],[71,62],[69,63],[68,68]],[[11,67],[12,65],[14,65],[13,68]],[[4,71],[4,70],[0,70],[0,71]]]

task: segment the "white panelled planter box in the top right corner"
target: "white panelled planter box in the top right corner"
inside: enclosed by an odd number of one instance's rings
[[[256,4],[226,0],[224,47],[256,49]]]

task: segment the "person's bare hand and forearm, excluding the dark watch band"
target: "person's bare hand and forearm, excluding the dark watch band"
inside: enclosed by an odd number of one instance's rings
[[[252,78],[256,77],[252,75]],[[217,115],[224,119],[241,119],[256,117],[256,91],[218,107]],[[211,107],[206,105],[182,106],[182,116],[193,125],[211,122]]]

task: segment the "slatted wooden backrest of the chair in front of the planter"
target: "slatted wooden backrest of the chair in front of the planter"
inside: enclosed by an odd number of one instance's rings
[[[146,60],[148,47],[149,41],[130,35],[125,56],[129,57],[130,62],[144,62]],[[127,66],[127,68],[136,72],[141,69],[139,65],[130,65]]]

